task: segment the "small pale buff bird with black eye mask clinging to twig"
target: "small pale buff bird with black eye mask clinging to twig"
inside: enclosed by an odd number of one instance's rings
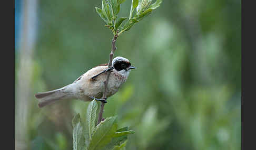
[[[79,99],[83,101],[95,99],[106,103],[106,99],[115,94],[127,80],[131,69],[136,68],[131,66],[128,59],[120,56],[115,57],[110,68],[107,63],[101,64],[88,70],[73,83],[63,88],[36,93],[35,97],[39,101],[38,106],[42,108],[54,101],[64,99]],[[107,84],[106,98],[101,99],[105,89],[104,81],[109,71],[111,73]]]

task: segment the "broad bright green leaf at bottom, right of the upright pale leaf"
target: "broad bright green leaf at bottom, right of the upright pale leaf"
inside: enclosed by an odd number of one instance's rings
[[[116,116],[108,117],[96,126],[88,150],[102,149],[111,141],[117,129],[115,120]]]

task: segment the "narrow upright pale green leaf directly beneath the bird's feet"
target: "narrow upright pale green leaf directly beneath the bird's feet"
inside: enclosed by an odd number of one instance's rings
[[[91,101],[87,107],[86,114],[86,126],[85,126],[85,143],[88,144],[92,140],[92,134],[95,129],[95,120],[97,112],[97,102],[95,100]]]

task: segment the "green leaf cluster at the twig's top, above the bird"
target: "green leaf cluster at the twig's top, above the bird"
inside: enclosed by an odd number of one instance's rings
[[[156,0],[153,4],[152,0],[132,0],[129,17],[118,18],[117,14],[120,12],[120,5],[124,2],[125,0],[102,0],[102,7],[95,7],[96,12],[114,35],[117,33],[117,29],[121,30],[118,35],[130,30],[135,23],[139,23],[143,18],[151,14],[153,9],[159,7],[162,0]],[[129,19],[127,20],[127,18]],[[126,23],[123,23],[124,20],[127,20]]]

